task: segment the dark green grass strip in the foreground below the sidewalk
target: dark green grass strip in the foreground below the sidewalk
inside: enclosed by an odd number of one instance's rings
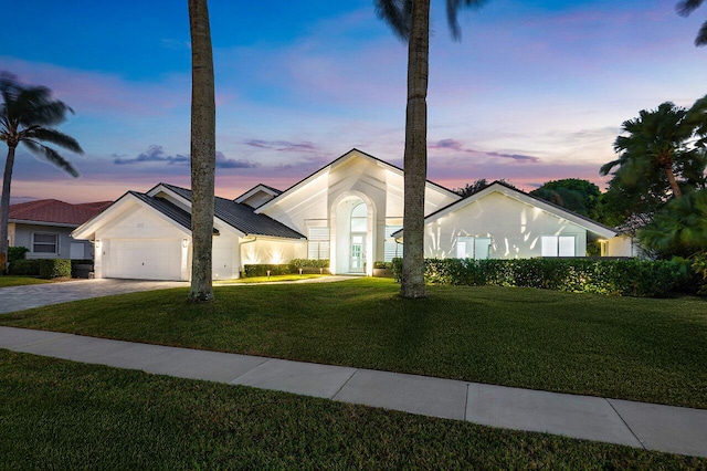
[[[0,350],[0,469],[705,469],[707,460]]]

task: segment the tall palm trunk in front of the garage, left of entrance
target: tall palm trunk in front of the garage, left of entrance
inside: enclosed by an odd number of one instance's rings
[[[215,179],[215,98],[207,0],[189,0],[191,31],[191,290],[189,301],[213,300],[211,279]]]

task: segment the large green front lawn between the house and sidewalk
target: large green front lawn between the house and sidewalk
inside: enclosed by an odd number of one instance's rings
[[[0,316],[0,323],[487,384],[707,408],[707,303],[389,280],[187,289]]]

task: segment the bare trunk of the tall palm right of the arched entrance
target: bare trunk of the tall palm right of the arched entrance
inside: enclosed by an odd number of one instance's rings
[[[424,297],[424,189],[428,178],[430,0],[414,0],[408,50],[404,155],[403,297]]]

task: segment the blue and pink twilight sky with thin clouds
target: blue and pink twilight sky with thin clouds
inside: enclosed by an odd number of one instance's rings
[[[453,42],[432,1],[429,178],[603,187],[621,123],[707,94],[707,9],[675,0],[489,0]],[[61,129],[80,180],[18,155],[13,200],[115,199],[189,186],[186,1],[33,1],[3,24],[0,70],[52,88],[76,114]],[[395,165],[404,143],[407,49],[371,0],[210,2],[217,74],[217,193],[281,189],[358,147]]]

